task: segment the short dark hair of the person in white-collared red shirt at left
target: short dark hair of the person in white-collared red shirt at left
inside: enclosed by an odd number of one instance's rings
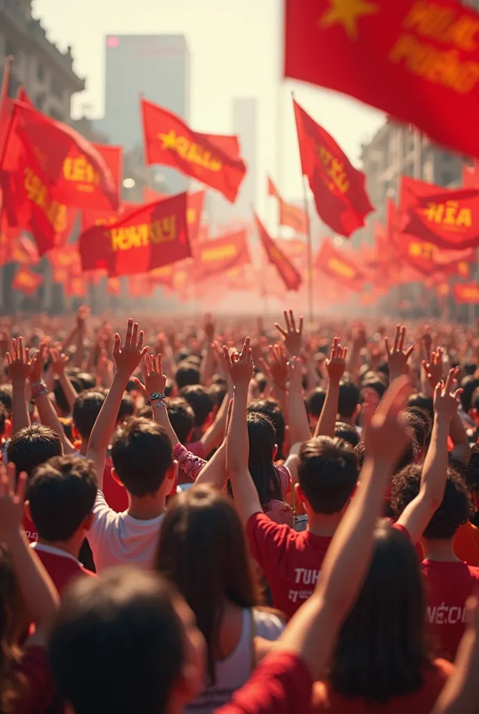
[[[96,490],[93,464],[81,456],[56,456],[38,466],[28,498],[39,538],[69,540],[91,513]]]

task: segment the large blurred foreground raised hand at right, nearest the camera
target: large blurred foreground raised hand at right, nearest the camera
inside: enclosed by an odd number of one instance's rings
[[[410,393],[411,382],[403,375],[391,382],[376,413],[366,405],[363,416],[367,456],[388,464],[398,463],[411,438],[406,418],[401,416]]]

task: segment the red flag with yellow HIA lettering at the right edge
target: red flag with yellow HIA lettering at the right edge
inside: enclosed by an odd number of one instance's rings
[[[477,189],[443,188],[403,176],[399,213],[402,233],[446,249],[479,245]]]

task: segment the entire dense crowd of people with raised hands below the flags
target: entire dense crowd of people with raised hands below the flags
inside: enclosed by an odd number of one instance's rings
[[[0,325],[0,711],[477,712],[476,326],[159,322]]]

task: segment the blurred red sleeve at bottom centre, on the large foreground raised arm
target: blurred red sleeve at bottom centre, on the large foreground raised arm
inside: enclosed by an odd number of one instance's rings
[[[311,675],[297,655],[264,658],[229,704],[215,714],[291,714],[309,712]]]

